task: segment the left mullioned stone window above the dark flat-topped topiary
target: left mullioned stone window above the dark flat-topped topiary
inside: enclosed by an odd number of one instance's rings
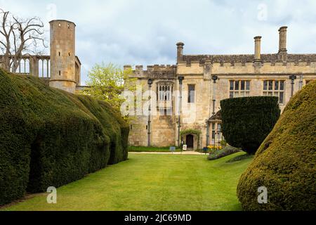
[[[237,82],[238,88],[236,85]],[[243,82],[244,89],[242,89]],[[249,84],[249,88],[247,84]],[[251,92],[251,79],[230,79],[228,82],[228,89],[230,91],[230,98],[249,97]]]

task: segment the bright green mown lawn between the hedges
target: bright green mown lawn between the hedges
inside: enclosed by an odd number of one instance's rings
[[[58,188],[58,203],[39,194],[2,210],[242,210],[236,187],[251,159],[138,155]]]

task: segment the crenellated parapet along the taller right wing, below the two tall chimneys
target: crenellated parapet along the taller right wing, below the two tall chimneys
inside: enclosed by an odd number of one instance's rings
[[[183,56],[186,58],[187,56]],[[189,57],[190,63],[178,63],[178,75],[292,75],[315,74],[316,54],[287,54],[287,60],[278,54],[263,54],[256,61],[254,55]],[[198,60],[200,59],[200,60]]]

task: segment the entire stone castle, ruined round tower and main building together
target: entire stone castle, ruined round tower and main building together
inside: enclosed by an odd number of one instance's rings
[[[23,57],[18,73],[42,77],[54,88],[75,93],[82,89],[76,25],[67,20],[53,20],[50,25],[50,56]],[[136,113],[129,144],[166,147],[184,141],[188,148],[197,149],[219,143],[221,100],[277,96],[284,110],[291,96],[316,79],[316,54],[289,54],[287,27],[279,29],[277,53],[261,54],[261,37],[254,39],[254,54],[184,55],[180,42],[176,65],[152,65],[147,70],[136,66],[131,78],[137,79],[143,92],[154,91],[154,95],[149,105],[141,103],[147,114]]]

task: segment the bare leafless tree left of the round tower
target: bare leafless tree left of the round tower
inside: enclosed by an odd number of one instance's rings
[[[22,19],[0,8],[0,65],[16,72],[23,57],[42,55],[45,44],[44,23],[40,18]]]

